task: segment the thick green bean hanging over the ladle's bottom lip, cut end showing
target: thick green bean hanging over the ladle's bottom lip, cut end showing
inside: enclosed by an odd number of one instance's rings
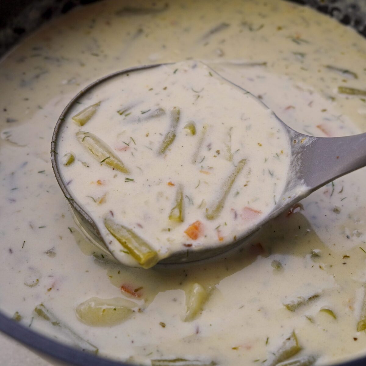
[[[116,223],[110,217],[104,219],[104,225],[143,268],[147,269],[156,265],[158,262],[157,252],[131,229]]]

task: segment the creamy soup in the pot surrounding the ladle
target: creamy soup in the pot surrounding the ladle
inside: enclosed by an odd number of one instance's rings
[[[365,169],[221,261],[128,268],[75,228],[49,160],[67,102],[113,71],[186,59],[204,60],[299,132],[366,131],[366,41],[308,8],[103,1],[53,20],[0,64],[1,310],[59,341],[142,365],[331,365],[365,355]]]

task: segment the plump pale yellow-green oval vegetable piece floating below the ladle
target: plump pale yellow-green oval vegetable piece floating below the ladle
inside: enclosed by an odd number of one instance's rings
[[[131,305],[121,298],[90,298],[79,304],[75,311],[78,319],[89,326],[113,326],[126,321],[133,314]],[[126,306],[126,305],[130,306]]]

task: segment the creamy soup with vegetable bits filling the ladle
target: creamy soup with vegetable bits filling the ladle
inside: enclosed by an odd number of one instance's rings
[[[284,127],[202,63],[115,77],[65,118],[57,141],[64,183],[124,264],[151,267],[172,251],[233,241],[283,199]],[[147,253],[116,239],[128,241],[130,231]]]

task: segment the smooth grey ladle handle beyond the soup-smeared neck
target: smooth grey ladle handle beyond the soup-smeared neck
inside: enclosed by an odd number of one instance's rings
[[[366,165],[366,133],[317,137],[301,152],[301,175],[311,191]]]

